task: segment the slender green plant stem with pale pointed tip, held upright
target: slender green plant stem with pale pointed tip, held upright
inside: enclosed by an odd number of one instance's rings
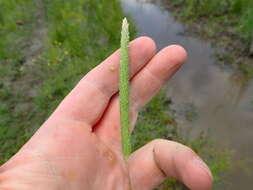
[[[131,154],[130,139],[130,119],[129,119],[129,29],[125,18],[121,30],[121,48],[120,48],[120,124],[121,124],[121,142],[124,157]]]

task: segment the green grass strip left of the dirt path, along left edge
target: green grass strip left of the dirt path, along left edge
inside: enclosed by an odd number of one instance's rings
[[[31,34],[34,3],[30,0],[0,0],[0,163],[13,155],[25,142],[25,113],[15,105],[24,97],[12,85],[21,75],[23,43]],[[18,22],[23,22],[19,25]]]

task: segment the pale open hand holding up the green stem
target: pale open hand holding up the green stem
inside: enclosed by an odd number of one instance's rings
[[[147,37],[130,43],[131,119],[186,60],[177,45],[156,53]],[[114,69],[111,69],[114,68]],[[119,51],[90,71],[35,135],[0,168],[0,190],[151,190],[176,178],[210,190],[212,175],[190,148],[156,139],[121,154]],[[130,185],[131,181],[131,185]]]

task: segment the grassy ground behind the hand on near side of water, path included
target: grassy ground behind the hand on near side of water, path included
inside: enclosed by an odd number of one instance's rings
[[[119,47],[122,17],[117,0],[0,0],[0,164],[85,73]],[[160,94],[143,110],[133,135],[135,149],[154,138],[180,141],[204,156],[218,181],[229,157],[206,138],[181,139],[169,104]]]

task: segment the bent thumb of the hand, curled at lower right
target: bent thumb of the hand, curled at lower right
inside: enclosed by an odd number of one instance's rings
[[[134,152],[128,159],[134,190],[150,190],[167,177],[175,178],[191,190],[210,190],[212,174],[190,148],[157,139]]]

